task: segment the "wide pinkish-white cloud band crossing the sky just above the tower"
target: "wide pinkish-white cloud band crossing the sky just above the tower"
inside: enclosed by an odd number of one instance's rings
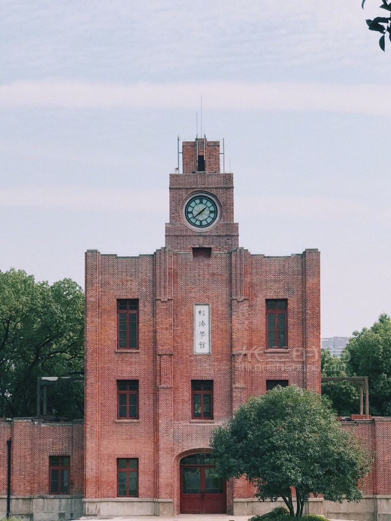
[[[0,106],[59,108],[206,108],[326,111],[391,116],[388,86],[311,82],[176,82],[134,84],[18,81],[0,86]]]

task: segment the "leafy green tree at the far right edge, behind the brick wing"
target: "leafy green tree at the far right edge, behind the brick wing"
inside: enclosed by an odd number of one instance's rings
[[[353,332],[344,357],[351,376],[368,376],[370,413],[391,416],[391,318]]]

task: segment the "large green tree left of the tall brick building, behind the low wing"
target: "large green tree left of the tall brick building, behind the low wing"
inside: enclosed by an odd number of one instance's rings
[[[38,376],[83,373],[83,330],[84,296],[76,282],[50,286],[22,270],[0,271],[0,416],[36,414]],[[82,417],[82,384],[64,386],[48,388],[48,413]]]

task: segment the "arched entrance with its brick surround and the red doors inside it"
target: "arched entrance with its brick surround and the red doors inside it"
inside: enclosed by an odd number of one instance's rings
[[[216,475],[209,448],[178,454],[174,459],[174,468],[173,501],[176,514],[225,514],[231,510],[232,487]]]

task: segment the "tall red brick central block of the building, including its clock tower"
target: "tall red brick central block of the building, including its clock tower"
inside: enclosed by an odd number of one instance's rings
[[[85,257],[87,514],[232,513],[209,440],[277,383],[320,391],[320,258],[239,247],[218,141],[182,143],[165,246]]]

